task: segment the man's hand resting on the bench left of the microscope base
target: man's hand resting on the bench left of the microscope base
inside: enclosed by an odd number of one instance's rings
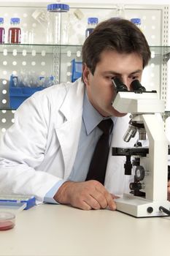
[[[54,199],[82,210],[109,208],[114,211],[114,196],[98,181],[66,181],[58,189]]]

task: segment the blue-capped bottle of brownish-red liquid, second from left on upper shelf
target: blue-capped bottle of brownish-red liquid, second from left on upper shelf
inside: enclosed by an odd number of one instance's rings
[[[20,18],[11,18],[10,23],[11,27],[8,30],[8,42],[10,44],[20,44]]]

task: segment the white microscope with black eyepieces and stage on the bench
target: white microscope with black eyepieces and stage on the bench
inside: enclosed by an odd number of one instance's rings
[[[132,91],[118,78],[112,83],[116,92],[112,106],[120,113],[131,114],[123,140],[128,143],[138,136],[134,147],[112,148],[113,156],[125,156],[125,175],[134,175],[129,193],[115,200],[117,211],[134,217],[168,216],[168,140],[161,118],[164,102],[156,91],[146,91],[139,80],[131,83]],[[146,138],[149,146],[142,146]]]

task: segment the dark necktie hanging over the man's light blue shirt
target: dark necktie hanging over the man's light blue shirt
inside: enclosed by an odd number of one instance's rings
[[[105,119],[98,124],[98,128],[103,131],[103,134],[96,144],[86,181],[94,179],[104,184],[109,154],[109,134],[112,131],[112,127],[113,122],[111,118]]]

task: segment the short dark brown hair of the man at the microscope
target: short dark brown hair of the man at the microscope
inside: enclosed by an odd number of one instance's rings
[[[94,74],[96,64],[104,50],[117,53],[137,53],[142,57],[143,67],[150,60],[150,48],[142,31],[131,21],[110,18],[96,26],[82,46],[82,64]]]

